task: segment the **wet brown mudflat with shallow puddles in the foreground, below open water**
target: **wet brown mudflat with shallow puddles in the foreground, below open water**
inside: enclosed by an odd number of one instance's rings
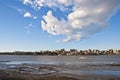
[[[115,73],[118,71],[118,75],[104,71]],[[120,80],[119,72],[120,65],[113,63],[105,65],[0,63],[0,80]]]

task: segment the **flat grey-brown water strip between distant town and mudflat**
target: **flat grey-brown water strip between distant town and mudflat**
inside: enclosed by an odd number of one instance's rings
[[[99,56],[19,56],[0,55],[0,61],[11,61],[13,63],[120,63],[120,55]]]

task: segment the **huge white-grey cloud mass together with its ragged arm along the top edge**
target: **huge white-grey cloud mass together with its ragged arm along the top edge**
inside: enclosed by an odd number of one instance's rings
[[[59,20],[49,10],[41,21],[42,29],[49,34],[66,36],[63,42],[79,41],[107,27],[120,6],[120,0],[24,0],[23,3],[37,9],[57,7],[61,11],[72,5],[67,20]]]

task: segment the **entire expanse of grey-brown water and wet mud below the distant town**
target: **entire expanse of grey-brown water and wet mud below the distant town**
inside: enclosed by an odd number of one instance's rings
[[[0,56],[0,80],[120,80],[120,56]]]

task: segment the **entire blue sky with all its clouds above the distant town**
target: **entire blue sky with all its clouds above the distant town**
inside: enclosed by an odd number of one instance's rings
[[[120,49],[120,0],[0,0],[0,51]]]

